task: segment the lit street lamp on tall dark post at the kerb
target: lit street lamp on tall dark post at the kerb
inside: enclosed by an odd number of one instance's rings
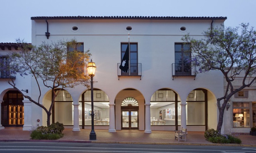
[[[94,131],[94,108],[93,108],[93,77],[96,71],[96,65],[94,62],[91,61],[87,65],[87,72],[89,76],[91,77],[91,99],[92,99],[92,130],[90,132],[90,140],[96,140],[96,133]]]

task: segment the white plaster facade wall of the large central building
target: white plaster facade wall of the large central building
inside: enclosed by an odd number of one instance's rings
[[[201,38],[201,33],[210,28],[211,20],[48,20],[48,23],[51,33],[49,39],[45,36],[45,20],[32,20],[32,44],[72,38],[77,42],[84,42],[84,49],[90,49],[92,60],[97,65],[94,76],[94,81],[97,82],[94,87],[106,92],[112,104],[116,95],[126,88],[137,89],[145,98],[145,103],[150,103],[152,94],[162,88],[173,89],[181,99],[186,99],[189,92],[196,88],[208,89],[214,97],[223,95],[223,76],[218,71],[198,74],[195,80],[193,77],[176,77],[172,80],[171,76],[174,44],[182,42],[181,38],[186,33],[194,38]],[[223,21],[213,22],[213,26],[220,24]],[[78,27],[76,32],[72,31],[73,26]],[[118,80],[117,63],[121,62],[121,42],[128,42],[127,26],[133,28],[130,42],[138,42],[138,63],[142,63],[141,80],[139,77],[121,77]],[[180,31],[181,26],[186,27],[185,32]],[[32,90],[36,91],[34,86]],[[85,90],[83,86],[76,86],[68,89],[68,92],[73,99],[79,99]],[[42,89],[42,95],[47,91],[48,89]],[[36,97],[34,94],[32,96]],[[216,111],[214,115],[217,115]],[[116,121],[116,128],[119,129],[121,124],[118,125],[118,118]],[[210,126],[214,125],[212,122]],[[144,123],[140,127],[143,129]]]

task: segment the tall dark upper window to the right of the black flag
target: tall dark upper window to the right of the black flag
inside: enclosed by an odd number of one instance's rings
[[[175,43],[175,75],[191,75],[190,45]]]

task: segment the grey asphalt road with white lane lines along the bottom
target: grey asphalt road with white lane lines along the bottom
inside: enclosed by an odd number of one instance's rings
[[[256,153],[256,147],[0,142],[0,153]]]

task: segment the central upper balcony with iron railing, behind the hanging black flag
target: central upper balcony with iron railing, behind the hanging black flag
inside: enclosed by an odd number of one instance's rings
[[[119,66],[121,63],[117,64],[117,75],[118,80],[121,76],[139,76],[141,80],[141,63],[130,63],[130,73],[122,71]]]

